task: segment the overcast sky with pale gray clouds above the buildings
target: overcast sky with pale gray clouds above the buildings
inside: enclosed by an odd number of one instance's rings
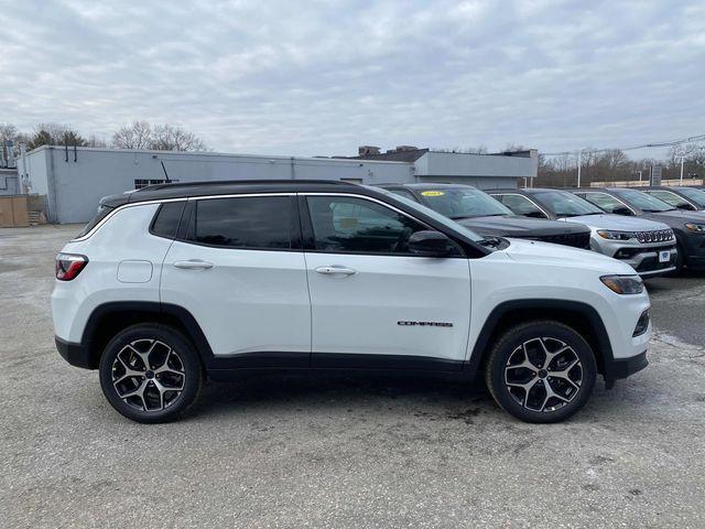
[[[0,0],[0,122],[216,151],[544,152],[705,133],[705,1]],[[633,153],[631,155],[634,155]]]

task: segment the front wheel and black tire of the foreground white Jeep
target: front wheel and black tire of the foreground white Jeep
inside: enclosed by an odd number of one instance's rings
[[[546,350],[555,354],[547,366],[543,365]],[[567,369],[575,360],[574,367]],[[522,363],[532,367],[520,366]],[[590,346],[573,328],[554,321],[529,322],[505,332],[495,343],[485,369],[487,388],[497,403],[517,419],[539,423],[563,421],[583,408],[596,377]],[[549,396],[549,389],[556,396]]]

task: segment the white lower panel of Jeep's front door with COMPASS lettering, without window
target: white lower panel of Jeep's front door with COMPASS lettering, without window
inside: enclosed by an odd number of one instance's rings
[[[314,366],[316,353],[465,359],[466,259],[306,253],[306,266]],[[355,273],[316,271],[335,266]]]

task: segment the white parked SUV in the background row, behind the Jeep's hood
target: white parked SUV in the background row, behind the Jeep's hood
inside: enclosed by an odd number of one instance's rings
[[[675,237],[663,223],[606,214],[568,191],[525,188],[488,193],[518,215],[588,226],[590,247],[595,251],[629,263],[642,278],[675,270]]]

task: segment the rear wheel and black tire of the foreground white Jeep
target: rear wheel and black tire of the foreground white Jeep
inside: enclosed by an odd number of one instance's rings
[[[160,324],[133,325],[118,333],[104,350],[99,371],[108,402],[128,419],[144,423],[180,418],[204,382],[193,344]]]

